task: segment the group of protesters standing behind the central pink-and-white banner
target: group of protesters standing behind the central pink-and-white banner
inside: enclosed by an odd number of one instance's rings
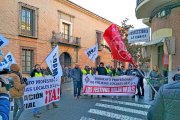
[[[123,65],[118,68],[114,68],[109,64],[105,66],[103,62],[101,62],[97,68],[90,67],[89,65],[85,65],[84,68],[81,70],[79,64],[76,63],[75,67],[71,70],[70,73],[70,76],[73,79],[74,97],[75,99],[79,98],[82,87],[82,75],[87,75],[87,74],[105,75],[105,76],[123,76],[123,75],[137,76],[139,78],[139,82],[137,85],[138,92],[136,95],[138,95],[139,97],[144,96],[144,83],[143,83],[144,72],[141,69],[140,71],[133,68],[132,65],[129,65],[129,68],[125,70]],[[99,95],[97,97],[99,97]],[[102,97],[105,96],[102,95]],[[118,96],[116,97],[118,98]],[[92,95],[91,98],[93,98]],[[114,96],[112,96],[112,98],[114,98]]]

